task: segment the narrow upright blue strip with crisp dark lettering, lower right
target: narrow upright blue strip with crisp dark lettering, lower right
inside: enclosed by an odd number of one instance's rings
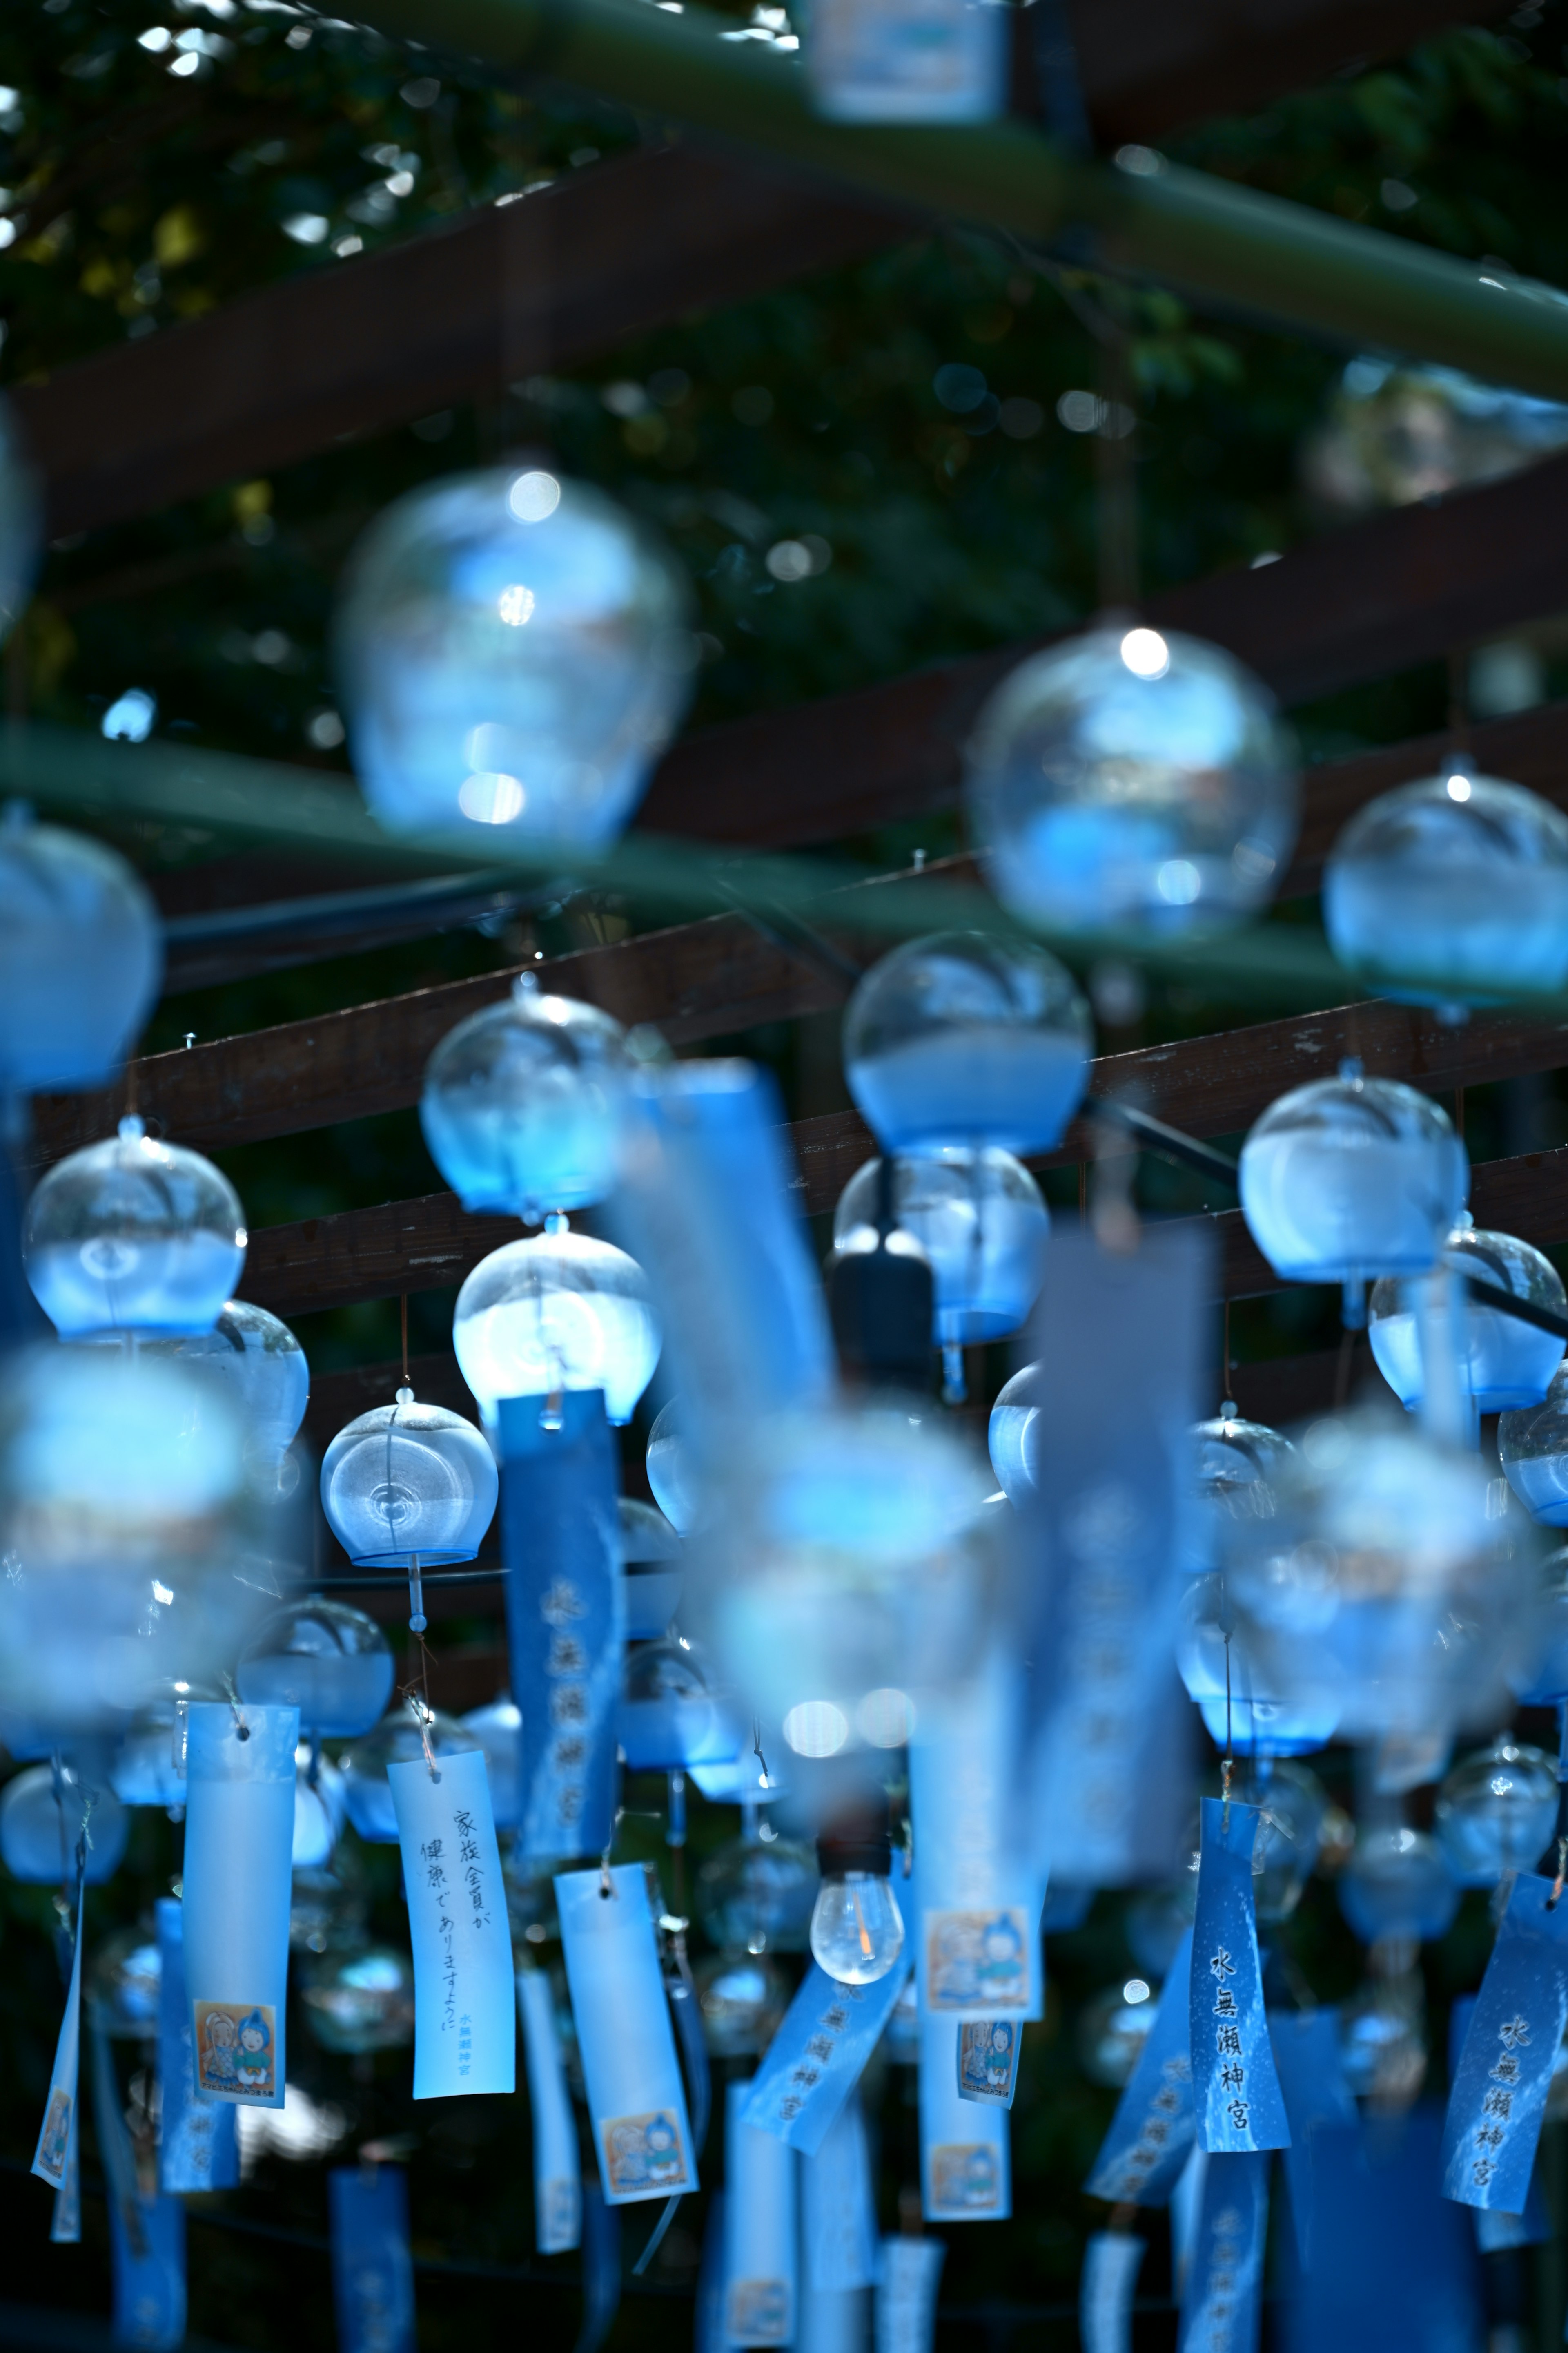
[[[1258,1807],[1204,1798],[1201,1824],[1187,2012],[1199,2141],[1211,2155],[1288,2148],[1253,1911]]]

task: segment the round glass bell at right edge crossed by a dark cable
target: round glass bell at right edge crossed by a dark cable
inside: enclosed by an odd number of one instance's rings
[[[1512,1292],[1514,1299],[1528,1299],[1530,1306],[1549,1308],[1554,1315],[1568,1315],[1568,1292],[1552,1259],[1533,1249],[1530,1242],[1519,1242],[1512,1233],[1479,1233],[1469,1221],[1462,1221],[1443,1242],[1443,1266],[1455,1275],[1474,1275],[1476,1282]],[[1460,1388],[1469,1393],[1474,1409],[1505,1414],[1540,1405],[1552,1386],[1552,1374],[1563,1362],[1563,1341],[1472,1297],[1462,1301],[1462,1315]],[[1378,1372],[1399,1402],[1413,1412],[1427,1388],[1422,1313],[1413,1285],[1389,1275],[1373,1285],[1366,1325]]]

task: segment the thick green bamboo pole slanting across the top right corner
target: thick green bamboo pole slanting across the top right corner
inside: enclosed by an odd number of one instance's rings
[[[797,56],[698,7],[649,0],[360,0],[397,40],[550,73],[642,113],[830,174],[919,214],[954,214],[1359,351],[1462,367],[1568,400],[1568,299],[1408,238],[1356,228],[1150,148],[1077,162],[1023,122],[860,127],[811,113]]]

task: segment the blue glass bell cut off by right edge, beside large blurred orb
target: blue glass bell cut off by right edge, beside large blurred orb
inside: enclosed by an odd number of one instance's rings
[[[1568,984],[1568,816],[1465,760],[1356,809],[1324,866],[1338,960],[1399,1005]]]

